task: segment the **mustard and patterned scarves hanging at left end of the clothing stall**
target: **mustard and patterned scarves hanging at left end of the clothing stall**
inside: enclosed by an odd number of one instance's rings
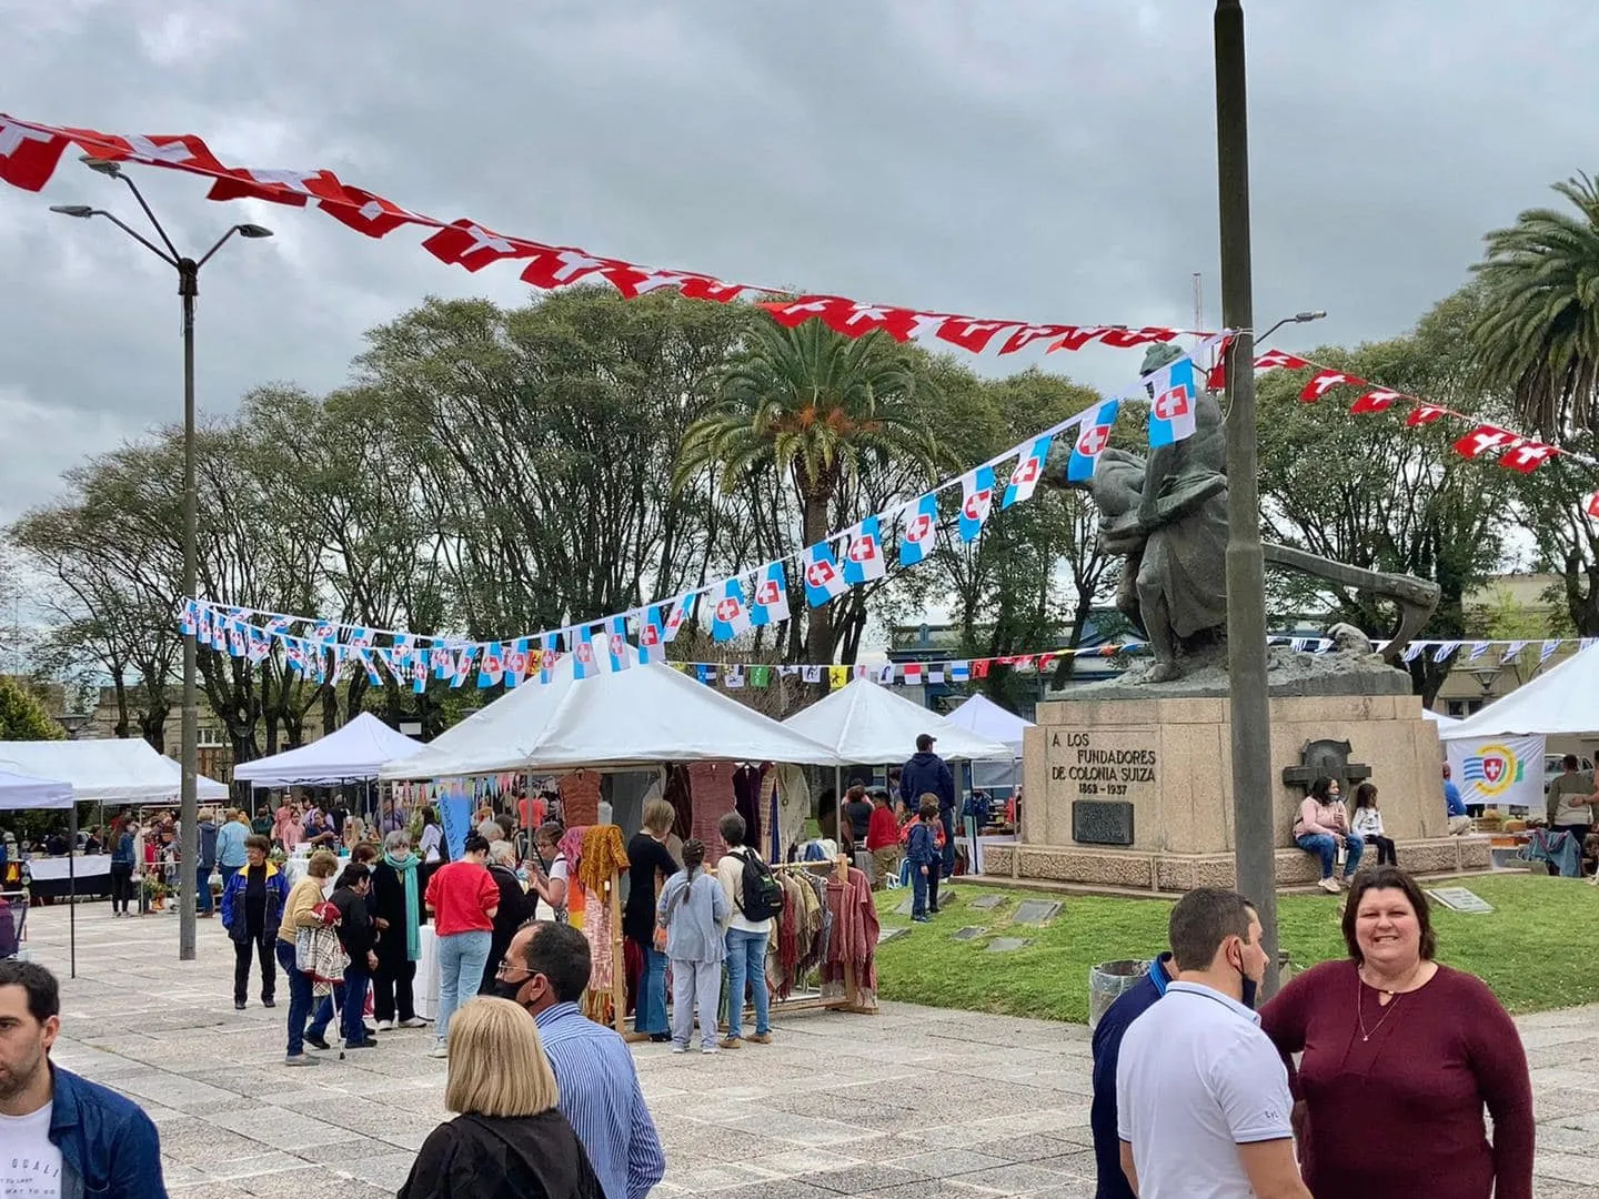
[[[627,966],[622,946],[622,874],[627,850],[616,825],[568,828],[560,852],[566,855],[566,911],[588,940],[592,959],[584,1015],[625,1031]]]

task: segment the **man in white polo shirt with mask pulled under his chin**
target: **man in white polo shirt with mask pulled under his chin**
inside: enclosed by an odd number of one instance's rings
[[[1172,908],[1175,980],[1116,1065],[1121,1165],[1138,1199],[1311,1199],[1294,1159],[1287,1070],[1254,1012],[1260,918],[1236,890]]]

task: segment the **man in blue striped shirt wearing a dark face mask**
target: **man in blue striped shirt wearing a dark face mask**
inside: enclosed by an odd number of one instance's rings
[[[665,1175],[667,1157],[627,1042],[577,1009],[590,970],[582,932],[528,921],[494,974],[494,994],[521,1004],[539,1025],[561,1114],[577,1130],[606,1199],[643,1199]]]

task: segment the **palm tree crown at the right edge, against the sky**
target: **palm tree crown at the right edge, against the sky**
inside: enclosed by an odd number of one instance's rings
[[[1599,417],[1599,185],[1578,174],[1554,190],[1577,216],[1533,208],[1484,238],[1471,329],[1487,380],[1514,388],[1517,416],[1546,436]]]

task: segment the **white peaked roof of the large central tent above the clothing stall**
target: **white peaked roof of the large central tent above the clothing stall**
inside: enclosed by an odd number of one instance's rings
[[[632,655],[635,651],[628,651]],[[601,649],[598,657],[606,659]],[[657,763],[822,763],[835,756],[753,708],[660,663],[524,683],[446,729],[379,779],[456,779],[502,771],[625,771]]]

